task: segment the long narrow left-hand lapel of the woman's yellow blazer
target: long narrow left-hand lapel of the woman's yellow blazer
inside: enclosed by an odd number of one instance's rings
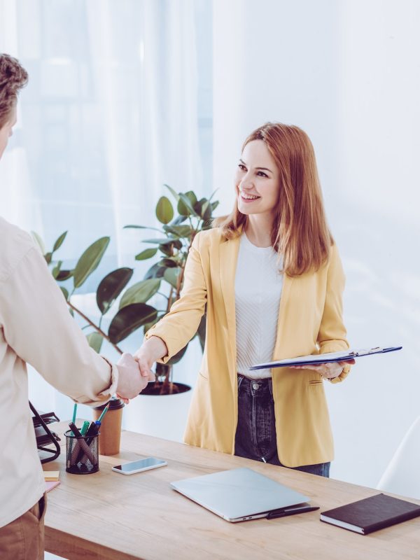
[[[220,245],[220,275],[223,301],[225,303],[226,324],[228,325],[228,340],[231,358],[235,364],[233,373],[236,374],[236,315],[235,315],[235,274],[237,268],[239,239],[229,239]]]

